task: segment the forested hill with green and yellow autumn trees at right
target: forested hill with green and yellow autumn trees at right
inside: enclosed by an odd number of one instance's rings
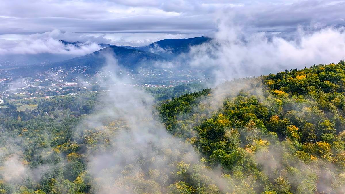
[[[344,94],[342,60],[227,82],[159,110],[171,134],[193,144],[211,167],[221,164],[230,191],[344,193]]]

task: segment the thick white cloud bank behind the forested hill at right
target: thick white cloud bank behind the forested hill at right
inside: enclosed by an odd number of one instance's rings
[[[191,68],[209,68],[219,84],[345,58],[344,28],[314,29],[299,28],[294,38],[287,39],[265,32],[247,33],[223,20],[213,41],[192,47],[181,60]]]

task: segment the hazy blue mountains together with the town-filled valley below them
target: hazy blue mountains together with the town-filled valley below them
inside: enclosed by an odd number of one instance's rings
[[[174,61],[173,54],[175,53],[177,57],[178,54],[188,52],[189,46],[209,40],[205,37],[167,39],[138,48],[100,44],[103,49],[83,57],[28,67],[0,69],[0,91],[4,93],[0,97],[3,98],[2,100],[13,98],[16,92],[25,93],[27,97],[36,97],[37,91],[31,93],[30,88],[41,90],[39,93],[54,91],[54,95],[64,94],[66,87],[69,88],[68,90],[71,87],[87,91],[104,90],[114,84],[109,81],[114,76],[123,78],[124,86],[167,88],[188,83],[206,84],[210,76],[205,70],[183,67],[183,64]],[[65,45],[80,44],[80,42],[62,42]],[[151,53],[160,47],[171,51],[169,51],[169,59]],[[160,52],[164,55],[162,51]],[[103,69],[103,66],[107,66],[105,55],[114,55],[115,65],[120,63],[124,68],[117,72]],[[132,66],[133,64],[136,65]],[[108,67],[112,68],[111,66],[112,64],[108,64]]]

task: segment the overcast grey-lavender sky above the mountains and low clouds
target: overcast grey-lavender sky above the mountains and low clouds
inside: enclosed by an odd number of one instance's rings
[[[2,0],[0,39],[55,30],[143,46],[164,38],[212,36],[224,18],[249,32],[344,26],[344,8],[344,0]]]

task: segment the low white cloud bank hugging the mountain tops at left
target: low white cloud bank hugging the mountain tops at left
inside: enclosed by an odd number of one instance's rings
[[[58,29],[35,33],[33,35],[0,35],[0,55],[12,54],[63,54],[81,56],[95,52],[101,47],[97,43],[112,45],[146,46],[166,38],[192,38],[203,34],[172,33],[74,33],[61,32]],[[78,46],[65,45],[60,40],[80,42]]]

